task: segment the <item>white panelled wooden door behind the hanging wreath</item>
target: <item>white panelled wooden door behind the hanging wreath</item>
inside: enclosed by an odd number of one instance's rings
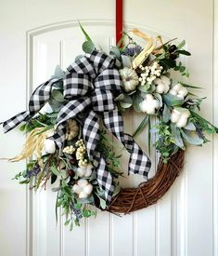
[[[202,114],[218,125],[217,1],[124,1],[124,26],[149,34],[186,39],[193,53],[186,61],[193,84],[208,98]],[[53,73],[67,68],[81,53],[81,20],[96,44],[114,44],[115,1],[1,0],[0,91],[5,120],[26,108],[32,92]],[[216,32],[216,34],[215,34]],[[216,46],[216,47],[215,47]],[[125,116],[133,132],[140,115]],[[145,134],[138,137],[147,150]],[[19,130],[3,135],[0,157],[19,153]],[[218,256],[218,141],[189,147],[186,168],[172,189],[153,207],[123,216],[98,212],[72,232],[56,225],[55,194],[34,195],[11,178],[25,163],[0,162],[1,256]],[[155,171],[155,155],[152,155]],[[125,159],[122,160],[123,167]],[[135,185],[140,178],[122,179]],[[59,212],[60,214],[60,212]]]

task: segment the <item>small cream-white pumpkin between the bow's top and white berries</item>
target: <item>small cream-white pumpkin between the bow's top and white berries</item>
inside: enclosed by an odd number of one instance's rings
[[[120,74],[122,77],[124,91],[129,92],[131,90],[135,90],[136,86],[139,84],[138,76],[135,70],[125,67],[120,70]]]

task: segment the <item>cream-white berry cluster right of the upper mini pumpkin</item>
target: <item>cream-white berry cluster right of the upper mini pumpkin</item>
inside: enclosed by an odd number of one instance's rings
[[[150,66],[144,67],[143,65],[140,65],[139,68],[142,71],[142,74],[138,80],[141,82],[142,86],[145,86],[146,84],[151,85],[152,82],[160,76],[163,69],[158,61],[154,61]]]

